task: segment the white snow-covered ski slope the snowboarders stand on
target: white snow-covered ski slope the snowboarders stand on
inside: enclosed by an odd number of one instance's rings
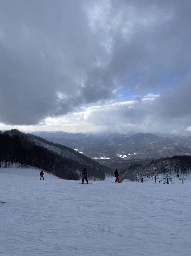
[[[191,177],[59,180],[0,168],[0,255],[190,256]]]

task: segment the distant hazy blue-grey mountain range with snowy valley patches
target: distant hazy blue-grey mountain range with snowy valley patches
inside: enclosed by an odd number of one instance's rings
[[[159,133],[138,133],[134,135],[72,134],[66,132],[31,132],[48,141],[70,147],[109,167],[126,166],[128,162],[172,157],[191,156],[191,137]]]

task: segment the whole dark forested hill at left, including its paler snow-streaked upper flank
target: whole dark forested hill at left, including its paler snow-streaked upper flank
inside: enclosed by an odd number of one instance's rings
[[[0,165],[20,163],[41,168],[63,179],[79,180],[84,167],[88,177],[105,179],[112,170],[68,147],[16,129],[0,132]]]

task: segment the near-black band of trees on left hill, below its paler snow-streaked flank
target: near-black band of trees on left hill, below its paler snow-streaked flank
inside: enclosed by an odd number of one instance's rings
[[[35,139],[15,129],[0,132],[0,167],[3,163],[19,163],[43,169],[62,179],[79,180],[84,162],[71,159],[71,154],[64,157],[42,145],[37,145]],[[87,169],[90,177],[105,179],[103,170],[98,170],[92,164]]]

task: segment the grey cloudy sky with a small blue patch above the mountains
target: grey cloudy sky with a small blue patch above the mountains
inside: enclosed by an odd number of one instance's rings
[[[190,0],[0,0],[0,129],[191,135]]]

